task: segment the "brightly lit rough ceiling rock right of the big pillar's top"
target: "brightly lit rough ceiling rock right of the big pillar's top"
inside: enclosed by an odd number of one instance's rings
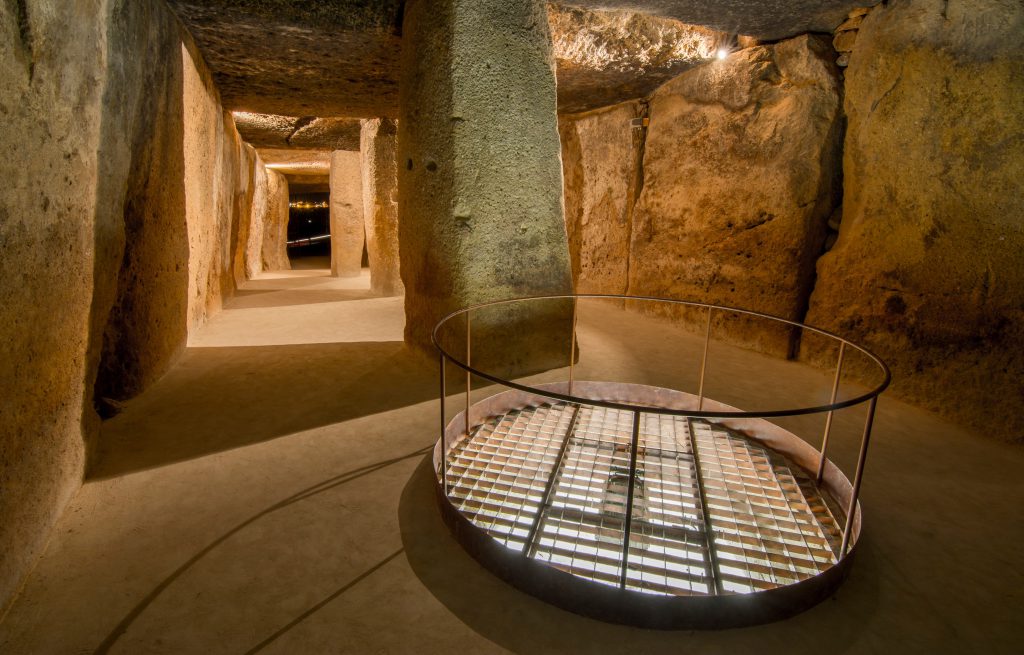
[[[634,11],[549,5],[548,20],[564,114],[643,97],[715,56],[730,36]]]

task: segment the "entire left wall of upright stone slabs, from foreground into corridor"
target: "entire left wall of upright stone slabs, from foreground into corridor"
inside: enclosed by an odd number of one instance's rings
[[[161,0],[6,2],[0,29],[3,606],[81,484],[94,402],[233,291],[258,164]]]

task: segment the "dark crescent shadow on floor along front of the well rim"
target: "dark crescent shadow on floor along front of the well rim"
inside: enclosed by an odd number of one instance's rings
[[[877,559],[861,549],[854,573],[834,599],[788,620],[713,631],[648,630],[603,623],[543,603],[473,560],[441,521],[429,455],[402,490],[402,545],[416,576],[459,620],[515,653],[843,653],[857,644],[877,608]],[[859,572],[859,574],[858,574]]]

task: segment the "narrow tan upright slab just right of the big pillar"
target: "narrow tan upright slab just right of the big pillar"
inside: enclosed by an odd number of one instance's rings
[[[578,293],[625,294],[646,104],[629,102],[559,121],[565,227]]]

